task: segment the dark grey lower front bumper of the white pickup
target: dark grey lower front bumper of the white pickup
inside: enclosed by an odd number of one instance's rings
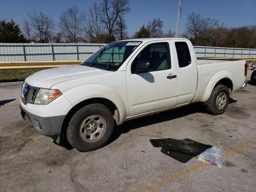
[[[66,115],[41,117],[26,111],[20,106],[21,115],[24,120],[28,119],[34,129],[45,136],[58,136],[60,135],[62,124]]]

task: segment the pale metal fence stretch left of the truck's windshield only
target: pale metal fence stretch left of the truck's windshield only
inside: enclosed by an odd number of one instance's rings
[[[105,44],[0,43],[0,62],[84,60]]]

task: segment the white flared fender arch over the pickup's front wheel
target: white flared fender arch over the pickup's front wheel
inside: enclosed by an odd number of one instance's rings
[[[108,99],[116,105],[120,115],[120,122],[123,122],[124,118],[126,118],[124,100],[118,91],[110,86],[104,84],[84,84],[66,90],[62,94],[64,94],[73,106],[91,98]]]

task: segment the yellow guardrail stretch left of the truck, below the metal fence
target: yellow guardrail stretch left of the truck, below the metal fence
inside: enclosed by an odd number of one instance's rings
[[[76,61],[21,61],[21,62],[0,62],[0,70],[12,69],[37,69],[37,68],[54,68],[66,65],[77,65],[83,62]]]

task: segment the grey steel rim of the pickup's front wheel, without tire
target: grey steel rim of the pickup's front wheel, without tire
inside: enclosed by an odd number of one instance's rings
[[[80,126],[80,136],[86,142],[99,140],[106,130],[106,122],[102,116],[91,115],[85,118]]]

